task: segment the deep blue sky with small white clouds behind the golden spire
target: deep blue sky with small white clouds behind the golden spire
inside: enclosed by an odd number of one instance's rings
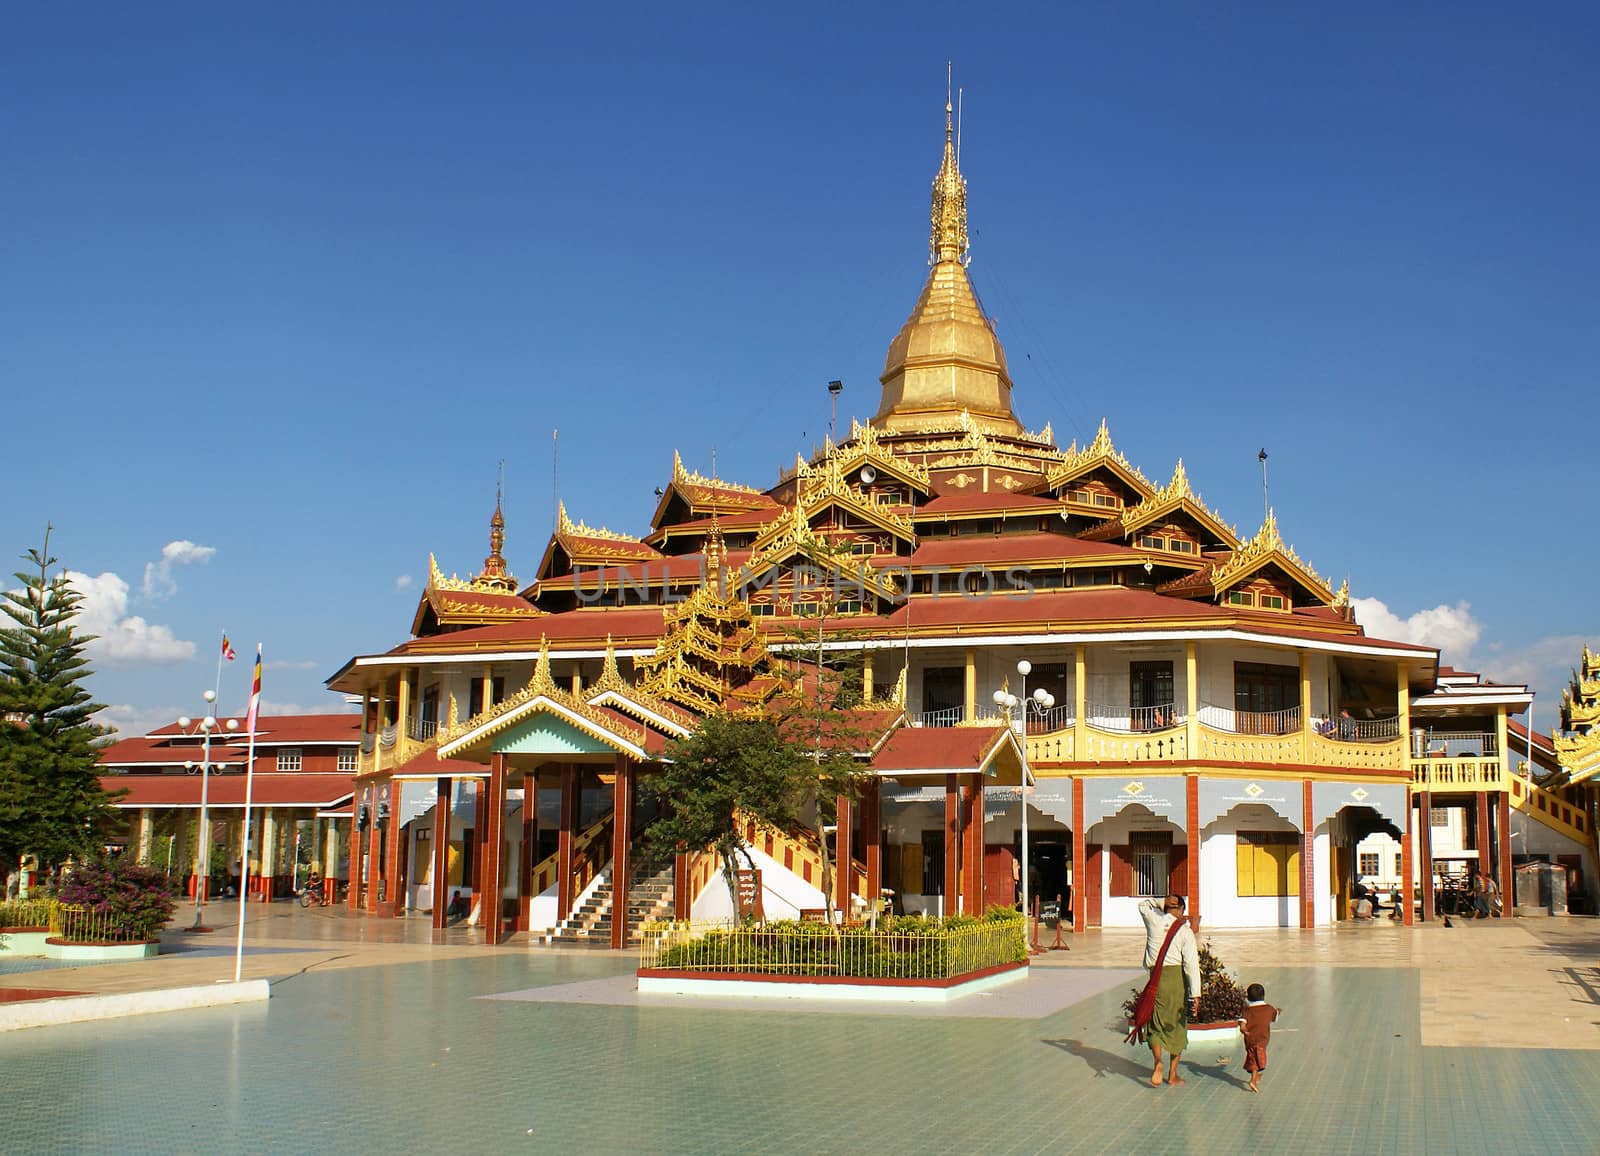
[[[1533,679],[1600,642],[1594,5],[11,5],[0,551],[53,544],[136,727],[227,629],[322,706],[426,576],[672,450],[766,484],[877,408],[944,61],[1022,419],[1104,416],[1374,632]],[[163,564],[165,551],[165,564]],[[8,567],[10,568],[10,567]],[[411,583],[406,588],[406,583]]]

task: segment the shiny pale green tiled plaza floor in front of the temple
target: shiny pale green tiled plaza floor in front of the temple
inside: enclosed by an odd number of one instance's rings
[[[1467,954],[1512,935],[1474,930]],[[1426,954],[1405,935],[1386,949]],[[1600,1052],[1424,1046],[1418,961],[1320,965],[1304,938],[1250,941],[1229,962],[1285,1009],[1261,1095],[1238,1057],[1198,1050],[1187,1086],[1147,1087],[1120,988],[1019,1018],[480,999],[630,967],[499,949],[314,967],[266,1005],[13,1033],[0,1127],[30,1153],[1600,1150]],[[1051,964],[1126,965],[1131,940],[1096,943]]]

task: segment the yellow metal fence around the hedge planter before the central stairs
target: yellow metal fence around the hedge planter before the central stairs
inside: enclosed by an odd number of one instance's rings
[[[662,972],[723,975],[850,975],[949,980],[1027,959],[1024,922],[984,919],[958,927],[832,927],[778,922],[766,927],[656,922],[642,930],[638,965]]]

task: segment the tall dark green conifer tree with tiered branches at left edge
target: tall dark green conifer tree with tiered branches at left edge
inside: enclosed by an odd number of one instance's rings
[[[0,592],[11,620],[0,629],[0,869],[24,853],[42,865],[85,853],[110,818],[98,775],[110,732],[94,722],[101,704],[83,687],[93,636],[72,628],[82,596],[64,570],[50,575],[50,527],[43,548],[22,557],[22,589]]]

